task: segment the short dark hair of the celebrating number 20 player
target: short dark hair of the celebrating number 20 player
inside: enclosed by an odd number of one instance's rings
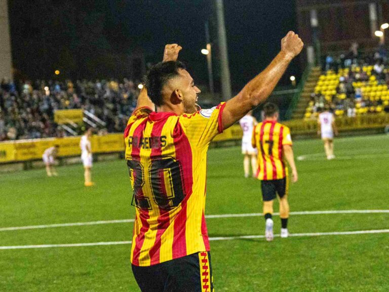
[[[169,80],[179,75],[178,69],[185,69],[185,65],[180,61],[160,62],[153,65],[144,77],[147,95],[155,105],[163,104],[162,88]]]

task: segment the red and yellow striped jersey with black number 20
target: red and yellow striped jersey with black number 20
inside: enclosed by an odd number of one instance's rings
[[[136,217],[131,262],[150,266],[209,251],[207,150],[222,132],[225,103],[195,114],[133,113],[125,130]]]

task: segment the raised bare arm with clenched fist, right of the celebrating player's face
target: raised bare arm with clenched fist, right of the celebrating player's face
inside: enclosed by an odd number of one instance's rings
[[[281,52],[259,75],[251,80],[242,91],[225,104],[222,123],[228,128],[241,119],[250,109],[265,101],[284,75],[290,61],[303,47],[298,35],[290,31],[281,41]]]

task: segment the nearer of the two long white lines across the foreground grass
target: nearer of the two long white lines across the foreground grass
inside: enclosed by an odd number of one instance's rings
[[[378,230],[359,230],[359,231],[339,231],[339,232],[317,232],[317,233],[292,233],[290,237],[304,236],[330,236],[330,235],[357,235],[357,234],[377,234],[389,233],[389,229]],[[275,237],[279,237],[275,234]],[[264,235],[242,235],[229,237],[210,237],[209,240],[235,240],[235,239],[256,239],[264,238]],[[80,247],[80,246],[98,246],[98,245],[119,245],[131,244],[132,241],[108,241],[108,242],[87,242],[87,243],[65,243],[65,244],[41,244],[41,245],[15,245],[15,246],[0,246],[0,250],[4,249],[30,249],[30,248],[52,248],[52,247]]]

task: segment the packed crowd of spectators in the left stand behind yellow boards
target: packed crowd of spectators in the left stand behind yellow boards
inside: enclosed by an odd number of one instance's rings
[[[0,88],[0,141],[69,135],[54,123],[56,109],[82,108],[105,122],[103,132],[122,132],[139,90],[130,80],[24,81],[3,79]],[[82,131],[82,127],[74,129]]]

